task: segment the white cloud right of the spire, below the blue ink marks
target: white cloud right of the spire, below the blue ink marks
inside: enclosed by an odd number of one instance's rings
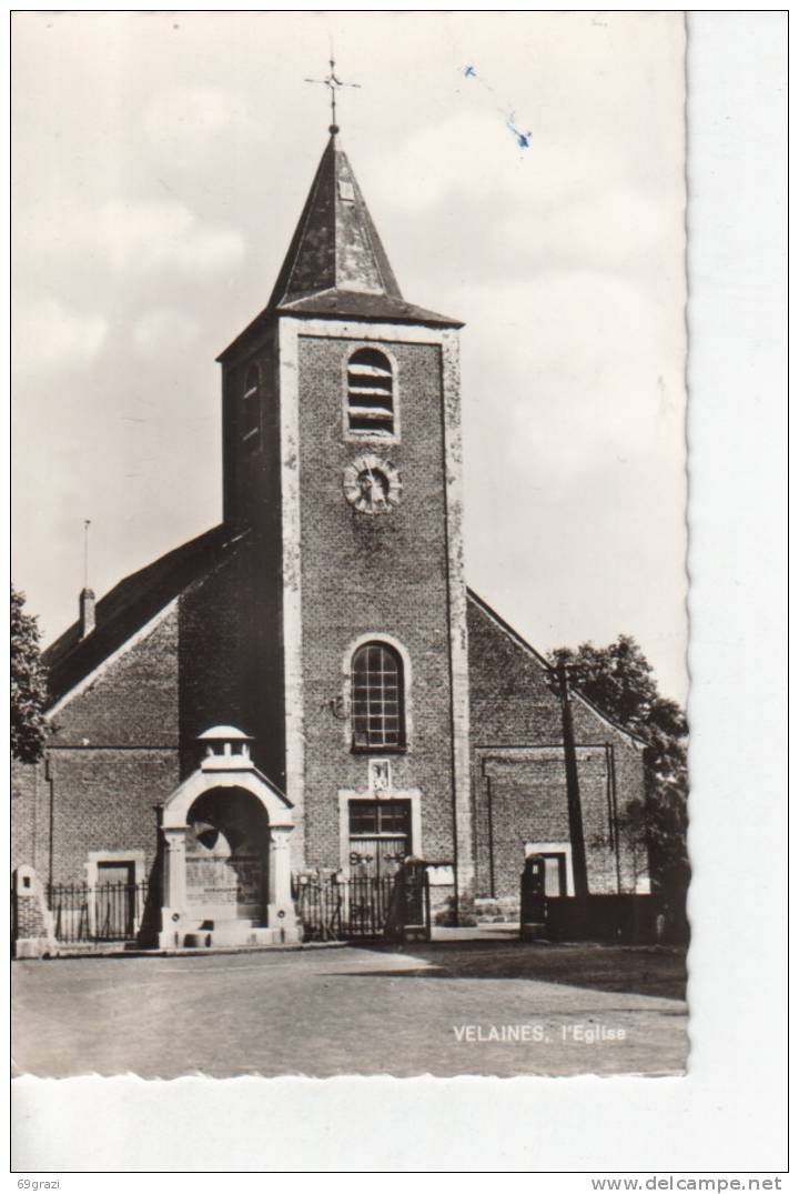
[[[682,260],[682,176],[674,171],[652,187],[645,171],[631,170],[630,146],[607,128],[595,137],[570,131],[565,142],[537,129],[522,152],[498,112],[462,110],[404,139],[396,153],[394,144],[382,149],[359,174],[385,226],[396,221],[396,239],[421,278],[434,233],[440,276],[460,273],[469,284],[578,266],[634,272],[661,287],[663,271]],[[409,228],[425,241],[416,260]]]

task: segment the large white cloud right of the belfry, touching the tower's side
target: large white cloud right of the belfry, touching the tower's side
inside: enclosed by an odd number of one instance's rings
[[[508,461],[531,454],[572,475],[597,455],[665,451],[682,460],[683,327],[623,277],[543,272],[527,284],[473,287],[462,314],[490,339],[464,340],[469,402],[502,412]],[[668,395],[675,400],[667,402]]]

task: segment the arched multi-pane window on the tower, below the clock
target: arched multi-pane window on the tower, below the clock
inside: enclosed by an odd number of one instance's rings
[[[385,642],[366,642],[352,659],[353,750],[402,750],[405,745],[402,659]]]

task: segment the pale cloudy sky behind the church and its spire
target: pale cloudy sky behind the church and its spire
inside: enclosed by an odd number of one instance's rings
[[[12,37],[12,574],[44,642],[83,519],[98,596],[221,519],[215,357],[287,250],[333,38],[400,287],[466,324],[469,584],[539,651],[632,634],[685,700],[682,14],[18,12]]]

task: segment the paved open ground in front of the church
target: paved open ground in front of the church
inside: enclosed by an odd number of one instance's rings
[[[683,956],[663,948],[18,961],[12,984],[17,1073],[675,1073],[687,1054]]]

